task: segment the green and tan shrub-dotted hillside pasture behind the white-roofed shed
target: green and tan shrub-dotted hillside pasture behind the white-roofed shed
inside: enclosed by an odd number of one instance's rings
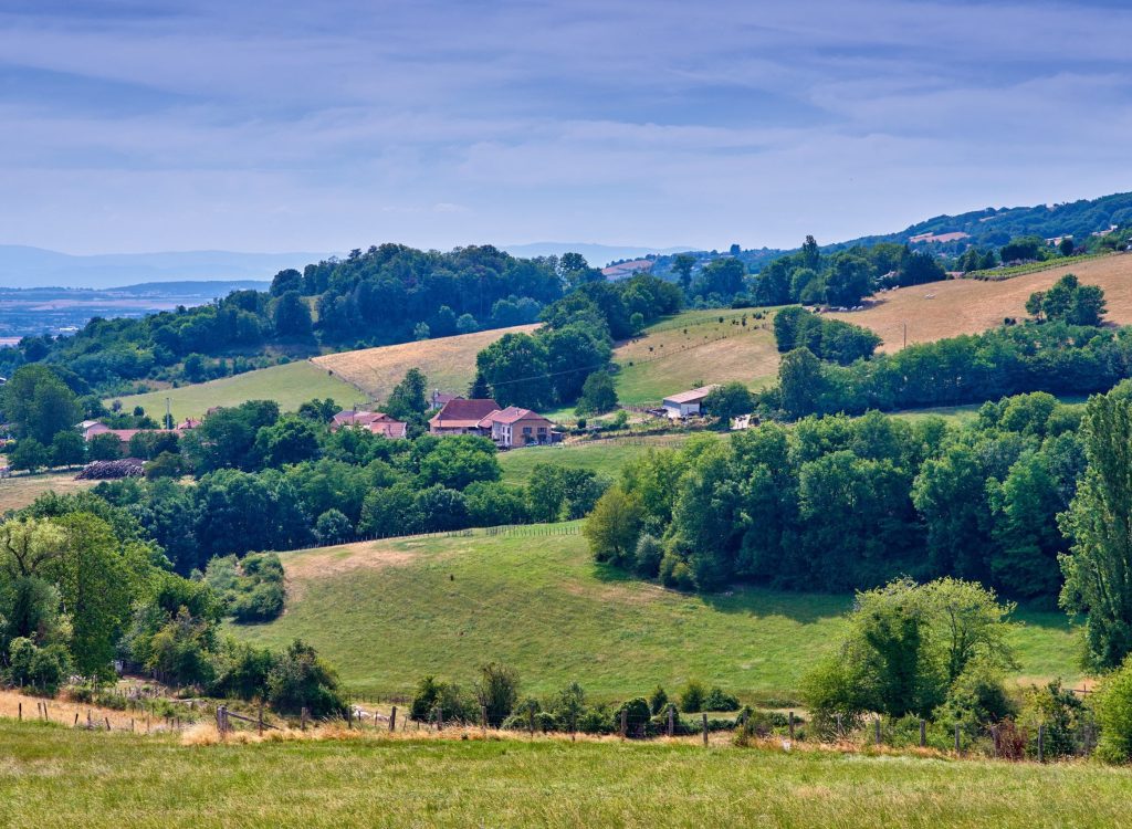
[[[729,381],[762,387],[778,371],[774,310],[694,310],[661,319],[615,349],[618,398],[629,404],[659,402],[676,392]],[[755,319],[756,313],[763,319]],[[746,327],[732,324],[744,316]]]

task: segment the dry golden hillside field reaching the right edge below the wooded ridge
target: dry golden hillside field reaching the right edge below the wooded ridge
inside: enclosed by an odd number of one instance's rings
[[[1049,288],[1066,273],[1074,273],[1081,282],[1104,289],[1109,322],[1132,324],[1132,254],[1053,265],[1002,282],[950,280],[898,288],[876,294],[874,305],[866,310],[830,316],[872,328],[884,337],[881,350],[899,351],[903,344],[904,323],[908,344],[977,334],[1002,325],[1004,317],[1026,316],[1029,296]]]

